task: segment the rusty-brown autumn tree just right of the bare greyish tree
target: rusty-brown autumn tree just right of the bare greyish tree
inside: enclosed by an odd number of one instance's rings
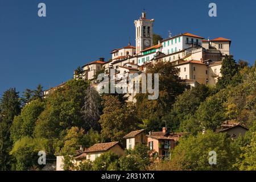
[[[137,129],[139,121],[133,104],[121,104],[117,97],[104,96],[103,106],[99,121],[102,137],[121,142],[124,135]]]

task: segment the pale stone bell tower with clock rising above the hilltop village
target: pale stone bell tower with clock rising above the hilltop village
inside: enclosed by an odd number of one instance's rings
[[[142,16],[134,21],[136,28],[136,53],[140,53],[143,49],[153,46],[153,23],[154,19],[147,19],[146,12],[142,12]]]

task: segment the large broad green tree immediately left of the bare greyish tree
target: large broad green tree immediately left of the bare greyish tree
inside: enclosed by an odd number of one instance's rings
[[[70,80],[49,94],[46,109],[39,115],[34,135],[39,138],[58,138],[61,131],[72,126],[84,126],[81,108],[84,105],[85,90],[88,82]]]

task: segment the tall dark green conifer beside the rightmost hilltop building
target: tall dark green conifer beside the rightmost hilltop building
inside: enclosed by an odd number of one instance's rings
[[[237,80],[233,80],[233,77],[239,72],[238,65],[236,61],[233,59],[233,56],[226,55],[224,60],[222,61],[221,66],[221,77],[218,78],[218,82],[216,84],[218,89],[224,89],[229,84],[237,85]]]

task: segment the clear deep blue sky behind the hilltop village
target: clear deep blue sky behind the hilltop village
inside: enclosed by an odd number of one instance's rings
[[[47,17],[38,17],[38,3]],[[217,18],[208,16],[210,2]],[[236,60],[256,59],[256,1],[85,1],[0,0],[0,96],[55,86],[72,78],[79,65],[110,58],[114,48],[135,45],[134,20],[143,9],[154,18],[154,32],[168,36],[191,32],[210,39],[232,39]]]

